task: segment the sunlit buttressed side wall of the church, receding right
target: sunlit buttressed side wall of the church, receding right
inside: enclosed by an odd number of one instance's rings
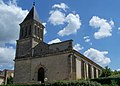
[[[89,61],[83,59],[81,56],[76,57],[76,79],[98,78],[102,69]]]

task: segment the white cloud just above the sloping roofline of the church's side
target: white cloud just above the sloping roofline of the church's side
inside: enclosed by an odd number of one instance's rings
[[[90,58],[101,66],[106,66],[111,62],[110,58],[106,57],[107,54],[108,51],[99,51],[94,48],[90,48],[84,52],[86,57]]]

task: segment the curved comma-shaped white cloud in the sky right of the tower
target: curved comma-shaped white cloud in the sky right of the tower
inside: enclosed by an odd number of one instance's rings
[[[81,21],[78,14],[68,14],[65,21],[68,25],[58,32],[60,36],[75,34],[80,29]]]

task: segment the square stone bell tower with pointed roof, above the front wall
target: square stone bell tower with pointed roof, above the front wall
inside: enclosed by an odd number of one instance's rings
[[[32,56],[33,48],[43,42],[44,26],[33,5],[32,9],[20,24],[20,35],[17,40],[16,59]]]

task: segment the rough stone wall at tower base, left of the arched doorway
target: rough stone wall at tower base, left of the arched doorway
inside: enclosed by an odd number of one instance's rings
[[[31,60],[15,61],[14,83],[28,83],[30,81]]]

